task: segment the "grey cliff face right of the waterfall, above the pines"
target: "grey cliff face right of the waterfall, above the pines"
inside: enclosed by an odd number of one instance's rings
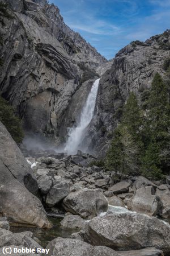
[[[155,73],[164,75],[163,64],[169,50],[163,47],[162,42],[168,46],[170,30],[152,36],[144,46],[129,44],[117,53],[111,69],[100,79],[95,115],[86,137],[86,140],[91,138],[89,151],[105,155],[110,141],[109,133],[117,127],[122,105],[129,92],[134,92],[141,102],[142,94],[150,88]]]

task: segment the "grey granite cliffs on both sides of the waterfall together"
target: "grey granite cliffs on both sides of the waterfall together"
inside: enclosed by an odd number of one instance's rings
[[[155,73],[164,75],[170,31],[145,43],[133,42],[107,61],[66,26],[58,7],[45,0],[5,2],[13,18],[5,18],[1,26],[2,96],[14,106],[25,129],[61,144],[68,128],[78,123],[91,86],[100,76],[85,140],[88,151],[104,155],[129,92],[135,92],[141,102]]]

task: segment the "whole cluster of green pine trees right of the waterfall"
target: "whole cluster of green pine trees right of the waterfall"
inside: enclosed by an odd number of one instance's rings
[[[156,73],[151,89],[143,90],[141,108],[130,93],[107,152],[107,168],[161,179],[170,164],[169,127],[168,86]]]

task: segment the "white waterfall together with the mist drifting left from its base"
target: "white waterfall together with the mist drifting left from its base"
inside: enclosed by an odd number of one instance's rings
[[[99,88],[100,79],[95,80],[90,93],[88,94],[86,103],[82,109],[79,122],[76,126],[71,127],[68,132],[68,139],[64,145],[56,146],[55,142],[42,134],[36,134],[31,132],[25,133],[25,137],[22,143],[24,148],[28,151],[54,151],[56,153],[66,152],[67,154],[74,155],[78,150],[86,152],[87,145],[86,137],[88,126],[94,116],[94,110],[96,105],[96,97]]]

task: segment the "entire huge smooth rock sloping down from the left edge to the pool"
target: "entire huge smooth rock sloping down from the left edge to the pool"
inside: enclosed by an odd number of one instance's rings
[[[12,221],[43,228],[50,226],[39,199],[36,177],[22,152],[0,122],[0,213]],[[29,191],[28,191],[29,190]]]

